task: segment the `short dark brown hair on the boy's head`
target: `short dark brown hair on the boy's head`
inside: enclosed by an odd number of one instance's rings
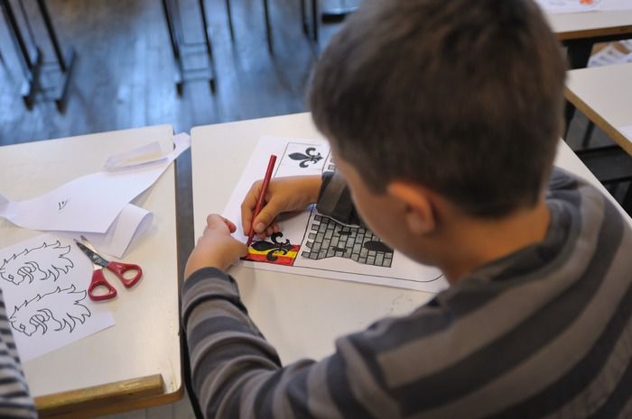
[[[309,101],[374,191],[414,182],[498,217],[542,193],[565,68],[531,0],[366,0],[322,53]]]

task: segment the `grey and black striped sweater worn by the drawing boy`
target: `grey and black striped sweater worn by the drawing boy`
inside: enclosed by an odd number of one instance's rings
[[[549,189],[543,242],[479,267],[412,314],[339,338],[324,360],[282,366],[235,281],[218,269],[193,273],[182,320],[202,410],[209,418],[632,417],[629,221],[560,169]]]

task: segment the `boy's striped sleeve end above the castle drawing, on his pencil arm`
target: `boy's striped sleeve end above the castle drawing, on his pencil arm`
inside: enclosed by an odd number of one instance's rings
[[[322,174],[321,192],[316,204],[318,212],[345,224],[359,224],[360,217],[353,205],[347,182],[338,170]]]

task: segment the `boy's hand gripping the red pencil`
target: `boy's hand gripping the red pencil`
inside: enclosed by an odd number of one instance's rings
[[[265,205],[255,219],[255,232],[260,239],[273,232],[278,232],[279,227],[274,222],[278,214],[290,211],[300,211],[318,199],[321,190],[322,179],[320,176],[293,176],[288,178],[274,178],[270,180]],[[244,234],[250,232],[250,223],[255,212],[256,200],[263,185],[263,180],[257,180],[244,198],[241,205],[241,223],[244,226]]]

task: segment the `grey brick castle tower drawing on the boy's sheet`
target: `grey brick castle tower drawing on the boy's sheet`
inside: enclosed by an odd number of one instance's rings
[[[302,251],[303,258],[346,258],[366,265],[390,268],[393,250],[364,227],[350,227],[329,217],[315,215]]]

